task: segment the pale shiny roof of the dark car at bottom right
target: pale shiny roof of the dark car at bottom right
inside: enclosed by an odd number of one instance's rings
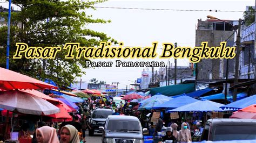
[[[254,124],[256,125],[256,120],[254,119],[208,119],[208,123],[213,124],[240,124],[240,125],[246,125],[246,124]]]

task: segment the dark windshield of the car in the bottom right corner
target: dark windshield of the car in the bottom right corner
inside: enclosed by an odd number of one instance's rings
[[[216,126],[213,141],[255,140],[256,125]]]

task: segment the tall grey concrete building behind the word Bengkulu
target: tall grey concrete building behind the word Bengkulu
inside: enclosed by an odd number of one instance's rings
[[[201,46],[201,42],[208,42],[208,47],[219,47],[220,42],[227,41],[226,46],[234,46],[234,31],[232,25],[238,25],[238,20],[198,19],[196,30],[196,47]],[[234,76],[234,59],[228,60],[228,78]],[[202,59],[196,64],[197,80],[215,80],[225,78],[226,59]]]

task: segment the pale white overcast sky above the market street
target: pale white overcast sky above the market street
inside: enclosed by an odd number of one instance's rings
[[[242,18],[247,5],[254,5],[254,1],[107,1],[96,4],[97,10],[86,10],[93,18],[111,20],[108,24],[90,24],[89,28],[104,32],[117,41],[123,41],[124,46],[151,46],[153,41],[158,41],[157,53],[161,54],[163,42],[177,42],[178,46],[195,46],[196,27],[198,19],[206,20],[207,15],[219,19],[238,20]],[[140,9],[169,9],[169,10],[135,10],[114,8],[140,8]],[[193,10],[193,11],[181,11]],[[206,11],[195,11],[206,10]],[[212,12],[208,11],[212,10]],[[215,12],[217,10],[217,12]],[[235,12],[229,12],[235,11]],[[163,61],[165,64],[173,59],[103,59],[93,61]],[[178,59],[178,66],[188,66],[187,59]],[[134,80],[141,77],[146,68],[88,68],[83,69],[82,81],[89,82],[91,78],[106,81],[107,84],[119,82],[118,88],[132,88]],[[158,70],[158,69],[156,69]]]

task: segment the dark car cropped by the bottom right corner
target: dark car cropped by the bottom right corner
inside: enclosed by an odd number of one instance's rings
[[[209,119],[201,135],[201,141],[253,139],[256,139],[256,120],[253,119]]]

